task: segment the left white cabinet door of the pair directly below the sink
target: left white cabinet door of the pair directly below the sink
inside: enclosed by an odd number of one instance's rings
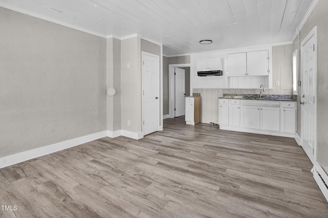
[[[260,129],[260,107],[243,106],[242,125],[245,128]]]

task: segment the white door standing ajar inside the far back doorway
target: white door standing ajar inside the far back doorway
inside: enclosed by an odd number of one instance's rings
[[[175,67],[175,117],[185,115],[185,70]]]

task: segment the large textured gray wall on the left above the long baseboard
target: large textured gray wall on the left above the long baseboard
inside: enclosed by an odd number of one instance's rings
[[[106,39],[0,7],[0,157],[106,130]]]

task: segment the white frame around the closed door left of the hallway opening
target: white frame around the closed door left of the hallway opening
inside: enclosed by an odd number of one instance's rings
[[[157,120],[158,120],[158,125],[157,125],[157,131],[161,131],[162,130],[162,120],[163,120],[163,113],[161,112],[161,108],[159,107],[159,101],[161,101],[161,105],[163,105],[163,92],[162,92],[162,85],[160,85],[159,81],[160,81],[160,77],[162,77],[162,74],[161,74],[161,70],[160,70],[160,62],[159,62],[159,56],[158,55],[154,55],[154,54],[151,54],[151,53],[148,53],[148,52],[144,52],[144,51],[141,51],[141,89],[140,89],[140,94],[141,94],[141,132],[142,132],[142,135],[144,136],[144,132],[143,132],[143,125],[142,125],[142,114],[143,114],[143,110],[144,110],[144,99],[143,99],[143,95],[142,95],[142,88],[143,88],[143,85],[142,84],[142,74],[144,73],[144,64],[142,64],[142,62],[144,61],[144,55],[148,55],[148,56],[152,56],[152,57],[155,57],[157,58],[157,61],[158,61],[158,81],[156,82],[157,85],[158,85],[158,98],[159,100],[157,101],[156,103],[156,107],[158,108],[158,111],[157,111]],[[161,88],[160,88],[161,87]],[[161,114],[161,115],[160,115]],[[161,120],[160,120],[161,119]]]

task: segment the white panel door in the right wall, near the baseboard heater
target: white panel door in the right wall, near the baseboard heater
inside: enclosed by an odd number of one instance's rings
[[[312,163],[316,152],[317,45],[316,31],[311,31],[301,46],[301,146]]]

